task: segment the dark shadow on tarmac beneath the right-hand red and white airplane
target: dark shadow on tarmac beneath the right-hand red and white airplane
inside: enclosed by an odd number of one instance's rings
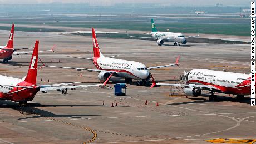
[[[206,98],[199,98],[199,97],[191,97],[189,98],[190,100],[195,100],[191,102],[179,102],[179,103],[170,103],[166,105],[184,105],[184,104],[189,104],[189,103],[210,103],[210,102],[224,102],[224,101],[229,101],[229,102],[238,102],[238,103],[245,103],[245,104],[250,104],[250,98],[245,97],[243,100],[237,100],[236,98],[233,97],[225,97],[225,96],[218,96],[217,100],[214,101],[209,101],[209,95],[202,95],[201,97],[206,97]]]

